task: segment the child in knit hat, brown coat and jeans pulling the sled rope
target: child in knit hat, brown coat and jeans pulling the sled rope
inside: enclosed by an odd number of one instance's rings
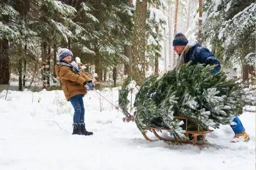
[[[60,63],[55,66],[56,75],[60,78],[61,88],[67,101],[72,104],[75,113],[73,118],[73,133],[79,135],[92,135],[84,125],[83,97],[86,90],[93,90],[92,80],[78,69],[78,64],[72,61],[73,53],[67,48],[58,48]]]

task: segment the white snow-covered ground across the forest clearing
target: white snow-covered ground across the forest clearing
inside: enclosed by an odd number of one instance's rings
[[[115,103],[118,90],[101,92]],[[146,141],[134,123],[99,94],[84,97],[86,128],[93,136],[72,135],[72,106],[62,91],[0,93],[0,169],[255,169],[255,107],[241,120],[248,143],[230,143],[228,125],[207,135],[211,146]],[[150,132],[148,136],[153,137]]]

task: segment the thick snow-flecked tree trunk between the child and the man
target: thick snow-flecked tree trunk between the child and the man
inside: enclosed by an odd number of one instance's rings
[[[134,38],[132,46],[132,78],[137,85],[145,79],[147,0],[136,1]]]

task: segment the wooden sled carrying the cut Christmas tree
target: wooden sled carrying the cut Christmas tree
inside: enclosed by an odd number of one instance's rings
[[[188,131],[188,119],[186,117],[174,117],[180,120],[185,120],[186,121],[186,130],[185,130],[185,136],[188,137],[189,134],[193,137],[193,140],[188,140],[188,139],[177,139],[177,138],[164,138],[162,136],[159,136],[157,134],[157,131],[170,131],[170,129],[164,129],[164,128],[157,128],[157,127],[143,127],[144,131],[152,131],[153,134],[156,136],[157,139],[163,140],[163,141],[168,141],[168,142],[174,142],[174,143],[190,143],[193,145],[205,145],[205,134],[212,132],[213,130],[207,130],[207,131],[199,131],[199,126],[198,126],[198,131]],[[134,121],[134,117],[124,117],[123,118],[124,122],[130,122]],[[202,136],[202,141],[198,142],[197,141],[197,136]],[[148,141],[155,141],[150,138],[144,133],[143,137],[147,139]]]

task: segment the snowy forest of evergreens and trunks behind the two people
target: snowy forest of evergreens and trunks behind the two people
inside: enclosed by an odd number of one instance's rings
[[[1,0],[0,85],[58,88],[59,47],[81,59],[97,88],[122,85],[129,74],[140,85],[173,69],[176,32],[252,84],[255,8],[252,0]]]

